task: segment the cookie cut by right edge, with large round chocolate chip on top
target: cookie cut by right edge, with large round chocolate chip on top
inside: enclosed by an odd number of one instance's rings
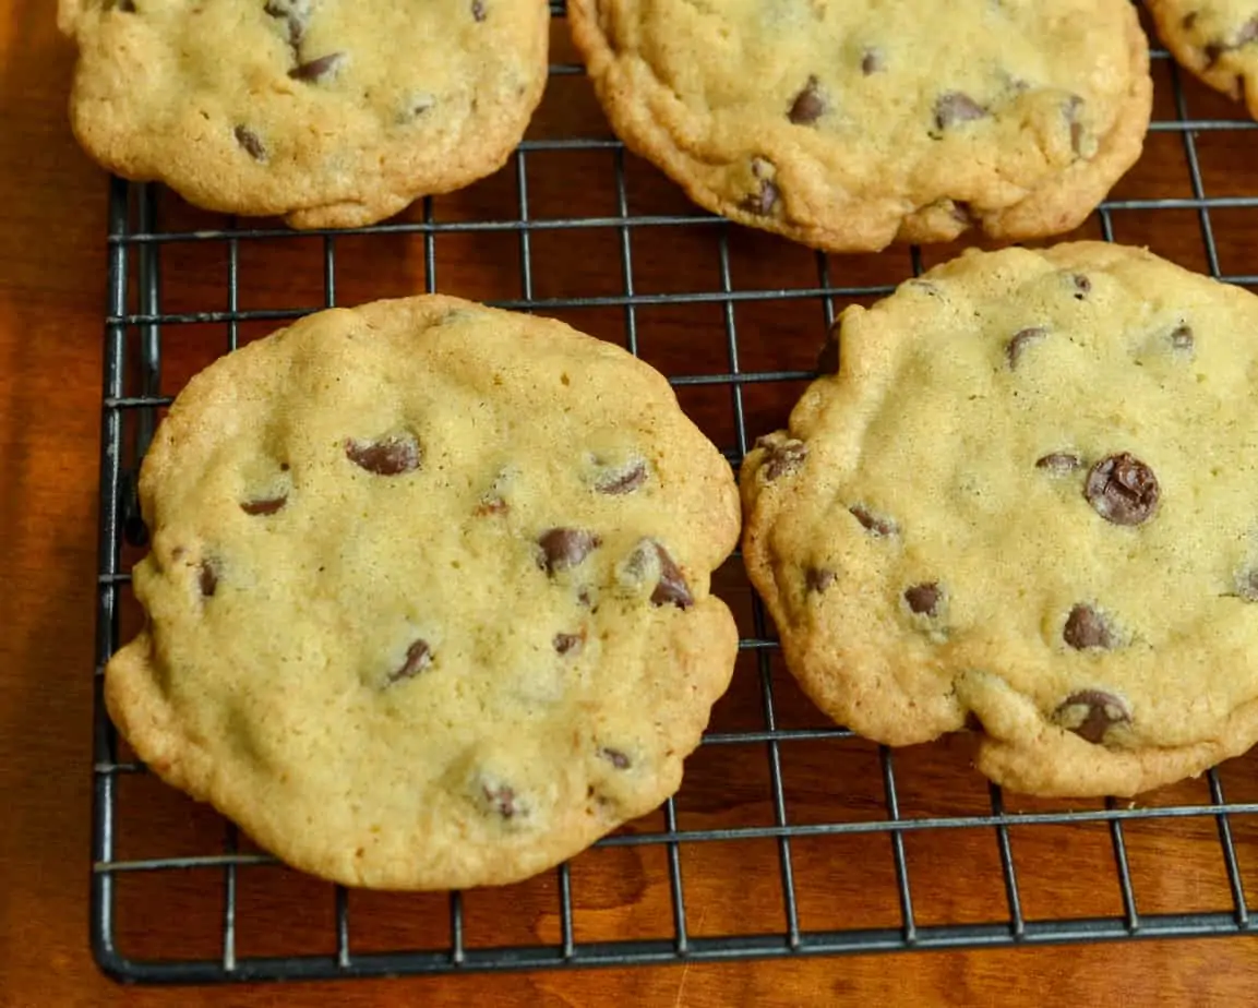
[[[838,323],[742,468],[785,661],[889,745],[1131,795],[1258,740],[1258,297],[1133,248],[971,252]]]

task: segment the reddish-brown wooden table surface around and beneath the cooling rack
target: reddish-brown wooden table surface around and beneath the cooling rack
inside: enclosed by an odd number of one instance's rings
[[[894,956],[853,956],[794,961],[693,964],[677,968],[569,972],[536,975],[458,977],[400,982],[356,982],[303,987],[219,988],[194,990],[125,990],[104,979],[88,950],[88,877],[91,805],[91,669],[96,571],[97,452],[101,418],[102,310],[104,306],[106,180],[74,146],[63,113],[72,53],[57,38],[52,5],[43,0],[4,0],[0,10],[0,191],[5,195],[0,224],[0,451],[4,490],[0,492],[0,534],[5,542],[5,590],[0,594],[0,794],[8,808],[0,827],[0,1004],[5,1005],[157,1005],[157,1004],[600,1004],[614,999],[632,1004],[788,1005],[816,1003],[873,1004],[1252,1004],[1258,990],[1258,944],[1247,939],[1128,941],[1110,945],[1001,951],[952,951]],[[562,47],[560,47],[562,49]],[[557,54],[564,58],[564,53]],[[1159,67],[1160,109],[1169,107],[1167,70]],[[571,79],[570,99],[551,103],[538,128],[571,128],[601,122],[584,82]],[[1224,102],[1190,88],[1198,115],[1232,116]],[[584,128],[584,127],[582,127]],[[1252,137],[1211,135],[1200,141],[1203,172],[1211,193],[1258,193]],[[594,159],[571,156],[562,169],[530,167],[532,209],[606,213],[608,174]],[[638,209],[687,211],[684,200],[644,166],[632,162]],[[1177,136],[1151,138],[1141,165],[1117,195],[1145,198],[1190,195],[1183,145]],[[506,196],[503,195],[506,194]],[[508,199],[515,211],[511,170],[468,198],[439,203],[443,213],[478,210],[476,200]],[[470,201],[469,201],[470,200]],[[600,200],[603,203],[600,203]],[[649,204],[649,205],[648,205]],[[657,206],[658,204],[658,206]],[[185,213],[176,200],[164,200],[171,214]],[[492,210],[491,210],[492,211]],[[189,220],[198,220],[194,214]],[[1258,213],[1218,213],[1214,224],[1225,272],[1255,273],[1258,254],[1248,244]],[[1190,266],[1206,266],[1196,215],[1191,210],[1116,214],[1117,237],[1147,242]],[[1096,233],[1094,223],[1086,233]],[[706,233],[711,235],[711,232]],[[637,237],[635,237],[635,240]],[[687,257],[712,254],[702,229],[659,242],[640,239],[635,247],[639,288],[667,284],[691,268]],[[478,297],[518,296],[516,238],[493,240],[443,239],[439,254],[443,289]],[[536,273],[537,296],[619,291],[619,259],[589,244],[582,235],[538,237],[535,257],[566,263],[565,269]],[[707,243],[706,245],[703,243]],[[283,243],[281,243],[283,245]],[[403,293],[421,284],[405,254],[380,255],[375,247],[340,244],[343,302],[385,291]],[[249,253],[253,255],[254,253]],[[260,253],[259,253],[260,254]],[[267,255],[269,269],[255,257],[254,276],[263,279],[258,305],[309,303],[304,274],[287,247]],[[730,254],[736,281],[772,287],[799,283],[786,271],[811,260],[771,239],[737,229]],[[863,282],[892,282],[905,274],[905,255],[832,259],[835,276]],[[931,250],[935,260],[944,252]],[[372,258],[375,257],[375,258]],[[803,258],[801,258],[803,257]],[[317,259],[316,259],[317,262]],[[306,263],[304,266],[302,263]],[[409,263],[409,266],[408,266]],[[794,266],[793,266],[794,264]],[[220,274],[205,263],[166,264],[167,291],[203,302],[221,297]],[[810,267],[809,267],[810,268]],[[611,273],[608,279],[608,273]],[[843,271],[839,273],[838,271]],[[316,276],[316,281],[317,281]],[[815,277],[814,277],[815,279]],[[684,281],[692,282],[692,281]],[[710,281],[711,283],[712,281]],[[314,303],[317,288],[314,284]],[[384,288],[384,289],[381,289]],[[180,294],[182,292],[182,294]],[[740,310],[742,311],[742,310]],[[740,316],[747,366],[808,367],[820,337],[820,318],[775,315],[750,307]],[[640,312],[644,354],[665,367],[693,367],[696,327],[722,325],[720,310]],[[572,317],[591,331],[618,339],[619,310]],[[800,332],[799,330],[803,330]],[[720,330],[723,332],[723,330]],[[755,333],[760,337],[756,339]],[[200,339],[200,337],[198,337]],[[192,341],[195,344],[195,340]],[[170,372],[181,379],[206,362],[204,351],[179,351],[167,340]],[[171,347],[175,347],[174,350]],[[750,349],[749,349],[750,347]],[[723,393],[727,396],[727,393]],[[790,390],[794,395],[794,390]],[[790,395],[752,396],[747,423],[767,429],[779,423]],[[722,430],[716,406],[694,395],[687,401],[715,437]],[[754,677],[752,677],[754,681]],[[785,690],[786,687],[784,687]],[[737,720],[756,710],[757,693],[731,696],[721,717]],[[785,717],[811,715],[790,696],[780,696]],[[800,750],[803,751],[803,750]],[[879,797],[873,750],[853,750],[845,768],[866,761],[864,778],[832,773],[825,753],[784,756],[793,820],[833,814],[835,804],[849,812],[876,807]],[[795,761],[794,764],[791,761]],[[1233,799],[1253,800],[1252,759],[1227,768],[1224,780]],[[902,797],[908,813],[950,812],[981,807],[986,793],[966,766],[965,751],[941,744],[897,756]],[[692,774],[693,790],[679,799],[679,815],[691,824],[756,820],[764,814],[764,754],[717,764],[701,754]],[[840,779],[842,776],[842,779]],[[759,783],[757,783],[759,781]],[[214,848],[221,834],[216,818],[180,795],[147,780],[137,787],[128,849]],[[760,788],[760,790],[756,790]],[[1185,784],[1149,802],[1196,802],[1204,785]],[[872,789],[872,790],[871,790]],[[868,792],[868,794],[866,794]],[[688,797],[686,797],[688,795]],[[916,804],[913,804],[916,803]],[[1023,803],[1027,805],[1027,803]],[[1029,807],[1029,805],[1028,805]],[[1243,878],[1258,886],[1258,829],[1247,819],[1233,823]],[[1016,833],[1016,832],[1015,832]],[[867,915],[872,924],[898,921],[886,837],[835,849],[799,843],[796,885],[804,924],[832,925],[847,915]],[[1209,819],[1171,828],[1164,823],[1127,831],[1132,881],[1142,912],[1225,910],[1230,906],[1222,872],[1218,839]],[[1108,833],[1098,828],[1059,827],[1016,833],[1013,839],[1029,917],[1121,912]],[[146,848],[147,844],[147,848]],[[999,861],[990,832],[951,834],[907,843],[918,921],[1001,919],[1006,907],[999,882]],[[138,856],[138,854],[137,854]],[[595,857],[593,854],[591,857]],[[649,856],[603,854],[579,861],[574,870],[576,905],[590,935],[615,936],[658,925],[662,895],[659,865]],[[687,852],[689,922],[696,934],[718,934],[759,926],[780,927],[776,846],[708,844]],[[580,867],[590,866],[589,871]],[[302,941],[326,944],[331,919],[328,890],[293,873],[268,870],[272,881],[244,895],[248,924],[242,922],[242,954],[284,951]],[[278,881],[276,881],[278,880]],[[530,912],[498,912],[491,896],[469,897],[469,920],[483,943],[554,940],[556,925],[552,881],[542,880],[509,899]],[[136,949],[170,951],[199,949],[214,934],[218,919],[204,896],[187,886],[138,886],[132,909],[151,915],[138,926],[133,915],[120,921],[121,934]],[[425,914],[444,902],[389,904],[351,897],[355,934],[367,945],[405,940],[408,927],[425,924]],[[420,897],[423,900],[423,897]],[[662,901],[663,900],[663,901]],[[548,909],[547,909],[548,907]],[[442,911],[443,912],[443,911]],[[419,919],[416,922],[416,917]],[[749,925],[750,921],[750,925]],[[741,927],[740,927],[741,925]],[[309,950],[308,946],[306,950]],[[190,953],[195,954],[195,953]]]

